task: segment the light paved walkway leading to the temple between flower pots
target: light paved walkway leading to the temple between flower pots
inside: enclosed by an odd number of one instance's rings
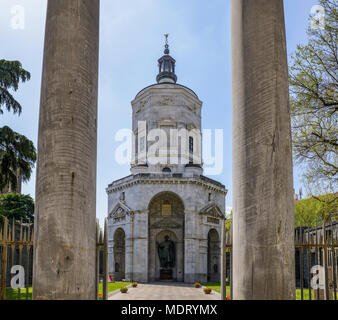
[[[113,293],[109,300],[220,300],[221,295],[212,291],[205,294],[202,288],[178,282],[155,282],[128,288],[127,293]]]

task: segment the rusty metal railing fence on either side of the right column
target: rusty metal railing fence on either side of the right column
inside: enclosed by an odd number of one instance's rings
[[[233,298],[232,236],[225,232],[226,284]],[[295,284],[298,300],[337,300],[338,222],[295,229]],[[230,289],[230,290],[229,290]],[[225,295],[225,294],[224,294]]]

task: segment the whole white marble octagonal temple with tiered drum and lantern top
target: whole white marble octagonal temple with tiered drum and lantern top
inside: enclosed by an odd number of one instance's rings
[[[115,281],[219,281],[226,188],[203,176],[202,102],[177,83],[175,59],[131,102],[131,174],[108,194],[109,272]]]

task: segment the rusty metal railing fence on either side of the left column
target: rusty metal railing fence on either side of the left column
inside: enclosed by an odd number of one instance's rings
[[[100,300],[108,298],[107,230],[107,220],[105,220],[104,231],[97,222],[96,297]],[[0,221],[0,300],[32,299],[33,232],[33,224],[15,220],[9,221],[6,218]],[[24,289],[22,283],[18,283],[18,272],[24,273]],[[20,288],[16,289],[16,285]]]

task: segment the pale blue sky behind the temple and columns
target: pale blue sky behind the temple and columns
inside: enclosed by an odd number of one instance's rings
[[[46,0],[1,0],[0,59],[19,60],[32,79],[15,93],[23,112],[5,112],[0,126],[37,142]],[[315,0],[285,0],[287,48],[306,42],[308,16]],[[11,9],[24,8],[23,29],[12,28]],[[223,172],[211,178],[229,190],[231,174],[231,30],[230,0],[101,0],[98,119],[97,216],[107,215],[105,188],[129,175],[129,166],[117,165],[115,133],[131,127],[131,105],[137,92],[155,83],[157,59],[169,33],[171,55],[176,59],[178,83],[193,89],[203,101],[202,126],[224,130]],[[299,190],[300,170],[294,170]],[[34,197],[35,171],[23,193]]]

